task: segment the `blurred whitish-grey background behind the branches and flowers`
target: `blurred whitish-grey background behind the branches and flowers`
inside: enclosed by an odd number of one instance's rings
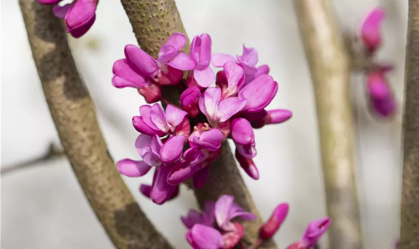
[[[212,37],[212,52],[241,54],[242,43],[259,52],[279,83],[268,109],[292,110],[285,124],[255,131],[260,172],[258,181],[243,173],[262,218],[280,202],[290,213],[275,240],[281,248],[300,238],[309,221],[326,215],[313,89],[291,0],[176,0],[190,38]],[[393,62],[389,75],[399,102],[390,120],[374,118],[368,109],[364,78],[352,77],[356,122],[356,167],[361,202],[364,248],[391,249],[399,234],[401,192],[401,113],[407,0],[331,0],[344,31],[357,32],[366,13],[380,4],[387,10],[379,58]],[[32,60],[17,0],[1,0],[1,167],[44,155],[59,145]],[[137,44],[120,1],[100,1],[96,23],[70,45],[96,103],[99,122],[115,160],[139,159],[138,132],[131,118],[144,99],[134,89],[111,85],[112,64],[124,56],[128,43]],[[240,169],[241,170],[241,169]],[[192,191],[163,206],[144,198],[140,183],[152,174],[124,178],[151,221],[176,248],[189,248],[180,222],[197,208]],[[1,174],[1,249],[111,249],[64,157],[34,163]],[[345,214],[343,214],[345,215]],[[326,239],[321,241],[326,245]]]

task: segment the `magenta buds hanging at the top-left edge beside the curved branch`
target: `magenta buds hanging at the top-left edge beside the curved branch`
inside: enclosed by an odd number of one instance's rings
[[[84,35],[96,19],[96,6],[99,0],[74,0],[62,6],[62,0],[37,0],[42,4],[54,5],[52,12],[59,19],[64,19],[66,31],[73,37]]]

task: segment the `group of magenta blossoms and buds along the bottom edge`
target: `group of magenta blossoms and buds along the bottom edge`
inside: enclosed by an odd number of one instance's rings
[[[279,230],[288,214],[288,204],[282,203],[273,211],[271,217],[259,229],[259,239],[252,247],[258,249],[263,241],[269,240]],[[240,244],[244,228],[231,219],[239,217],[243,220],[254,220],[256,216],[243,212],[229,195],[221,196],[217,202],[208,201],[201,213],[190,210],[187,216],[181,218],[188,228],[186,240],[194,249],[232,249]],[[217,229],[214,228],[216,222]],[[287,249],[310,249],[326,233],[330,219],[324,218],[310,222],[301,240],[293,243]]]

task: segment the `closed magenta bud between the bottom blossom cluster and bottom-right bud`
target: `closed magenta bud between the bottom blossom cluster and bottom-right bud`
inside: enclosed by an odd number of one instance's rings
[[[259,238],[261,240],[268,240],[273,237],[287,217],[288,210],[288,203],[279,204],[275,208],[269,220],[260,227]]]

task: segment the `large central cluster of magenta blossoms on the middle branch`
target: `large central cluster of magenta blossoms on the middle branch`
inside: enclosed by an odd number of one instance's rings
[[[243,46],[243,55],[236,58],[211,56],[211,38],[202,34],[195,36],[191,55],[187,55],[181,52],[186,42],[184,34],[174,33],[160,48],[157,59],[127,45],[125,58],[113,66],[113,86],[135,88],[149,104],[162,100],[164,86],[177,86],[182,92],[179,105],[167,105],[166,111],[157,103],[140,107],[140,116],[132,122],[141,133],[135,146],[143,160],[117,163],[120,173],[131,177],[155,167],[152,185],[142,185],[140,191],[158,204],[176,196],[179,184],[190,178],[201,188],[226,138],[234,141],[240,166],[258,179],[252,160],[256,156],[253,128],[282,123],[292,116],[288,110],[265,110],[278,83],[267,74],[268,66],[256,67],[254,48]],[[211,62],[223,68],[216,79]],[[185,71],[188,77],[183,80]],[[210,87],[214,80],[215,87]]]

